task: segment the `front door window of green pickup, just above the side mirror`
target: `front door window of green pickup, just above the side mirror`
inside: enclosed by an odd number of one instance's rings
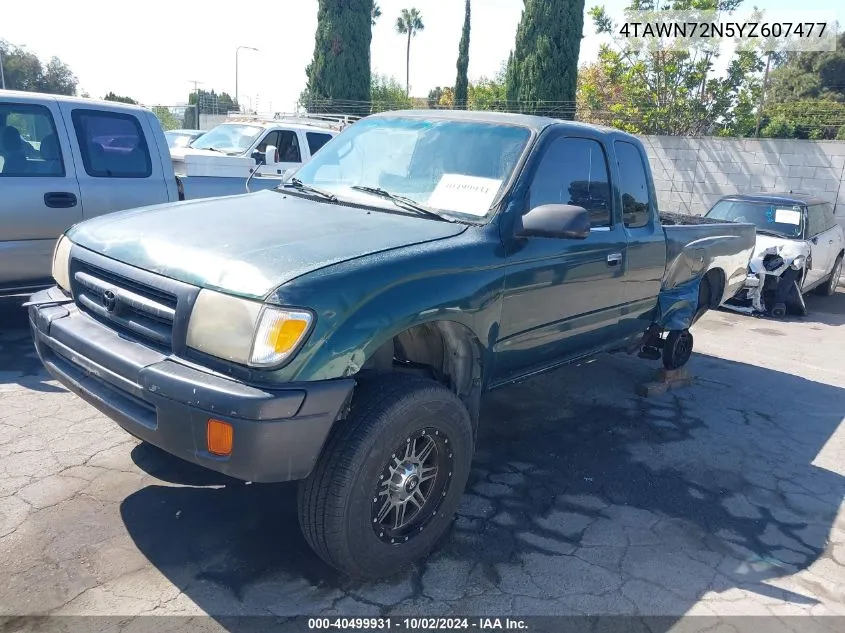
[[[587,209],[591,226],[610,226],[610,178],[602,146],[586,138],[552,141],[537,166],[528,195],[529,209],[571,204]]]

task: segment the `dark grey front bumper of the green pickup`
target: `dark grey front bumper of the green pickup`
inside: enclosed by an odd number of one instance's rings
[[[244,481],[303,479],[353,379],[246,385],[174,360],[80,312],[57,288],[34,294],[29,321],[44,366],[123,429],[194,464]],[[208,420],[232,426],[227,456],[207,447]]]

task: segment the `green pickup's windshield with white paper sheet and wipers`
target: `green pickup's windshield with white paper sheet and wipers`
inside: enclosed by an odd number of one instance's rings
[[[296,178],[357,203],[392,206],[353,189],[372,187],[462,219],[481,218],[530,136],[523,127],[474,121],[364,119],[329,141]]]

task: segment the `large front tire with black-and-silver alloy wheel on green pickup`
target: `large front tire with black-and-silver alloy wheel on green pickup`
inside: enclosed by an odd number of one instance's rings
[[[445,387],[392,374],[362,382],[300,483],[305,539],[350,576],[400,571],[449,529],[472,455],[469,413]]]

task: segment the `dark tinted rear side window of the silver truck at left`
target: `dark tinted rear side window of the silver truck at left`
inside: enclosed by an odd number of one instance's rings
[[[94,178],[148,178],[152,159],[137,118],[76,109],[71,115],[85,173]]]

